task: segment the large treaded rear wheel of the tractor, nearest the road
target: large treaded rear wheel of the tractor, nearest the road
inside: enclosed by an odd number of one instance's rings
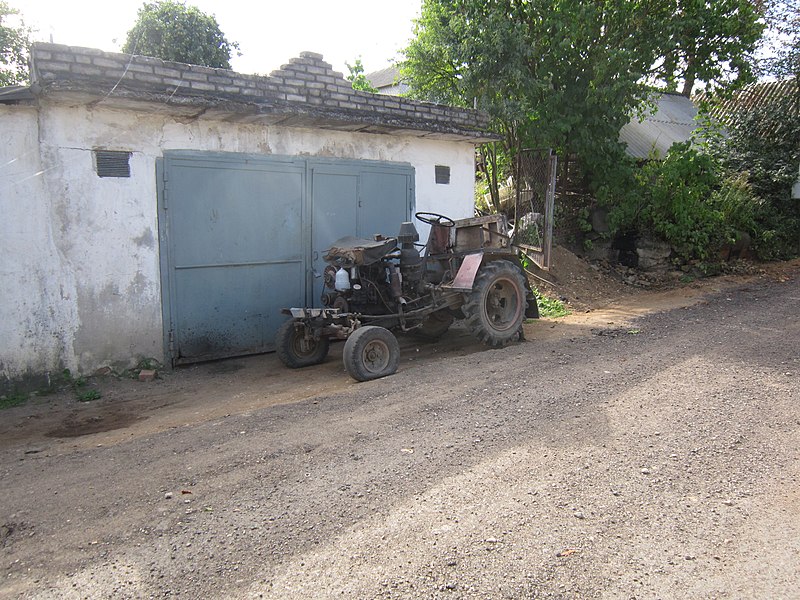
[[[472,335],[492,348],[518,337],[525,319],[525,278],[507,260],[481,266],[462,310]]]

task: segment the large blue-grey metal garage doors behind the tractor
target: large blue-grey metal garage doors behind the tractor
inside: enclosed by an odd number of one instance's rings
[[[413,169],[367,161],[165,153],[159,166],[165,344],[174,364],[265,352],[287,306],[318,306],[322,256],[395,235]]]

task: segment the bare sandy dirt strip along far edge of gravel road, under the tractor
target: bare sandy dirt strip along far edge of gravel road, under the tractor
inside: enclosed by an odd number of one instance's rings
[[[539,278],[532,277],[531,282],[552,297],[562,298],[570,314],[526,323],[525,334],[532,342],[621,330],[637,317],[704,302],[708,294],[741,285],[787,281],[800,268],[800,261],[749,265],[743,275],[683,284],[673,279],[670,285],[643,290],[592,268],[561,247],[556,247],[554,260],[552,271],[536,270]],[[485,350],[458,325],[438,343],[401,337],[400,344],[402,369]],[[113,375],[90,377],[88,387],[78,391],[96,389],[99,400],[79,402],[74,390],[64,387],[5,411],[0,421],[0,449],[21,443],[41,445],[48,440],[72,448],[115,444],[231,414],[346,392],[358,384],[346,375],[341,351],[341,344],[335,344],[325,364],[300,371],[284,368],[275,354],[264,354],[160,371],[158,379],[147,383]]]

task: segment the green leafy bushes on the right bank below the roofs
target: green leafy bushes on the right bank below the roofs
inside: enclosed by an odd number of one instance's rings
[[[796,82],[796,80],[794,80]],[[693,145],[663,161],[618,161],[587,173],[609,208],[611,234],[653,234],[683,261],[711,261],[747,234],[763,260],[800,254],[800,201],[791,198],[800,164],[800,91],[707,124]]]

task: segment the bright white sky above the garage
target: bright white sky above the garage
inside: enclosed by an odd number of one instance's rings
[[[119,52],[144,0],[7,0],[36,41]],[[383,69],[413,34],[421,0],[187,0],[214,15],[242,56],[240,73],[268,75],[300,52],[322,54],[348,74],[361,58],[366,72]]]

